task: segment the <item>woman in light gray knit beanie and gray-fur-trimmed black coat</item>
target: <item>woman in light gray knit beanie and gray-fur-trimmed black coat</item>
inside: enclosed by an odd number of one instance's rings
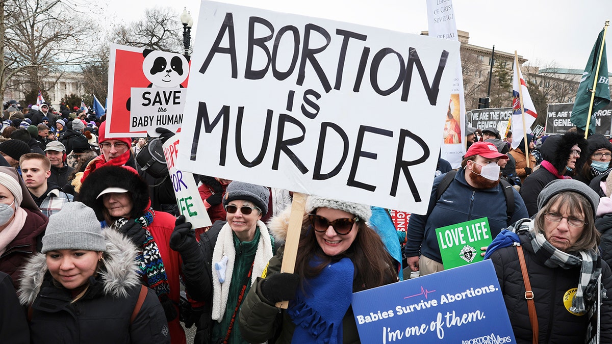
[[[19,289],[31,343],[170,343],[162,305],[140,284],[137,254],[83,203],[51,215]]]

